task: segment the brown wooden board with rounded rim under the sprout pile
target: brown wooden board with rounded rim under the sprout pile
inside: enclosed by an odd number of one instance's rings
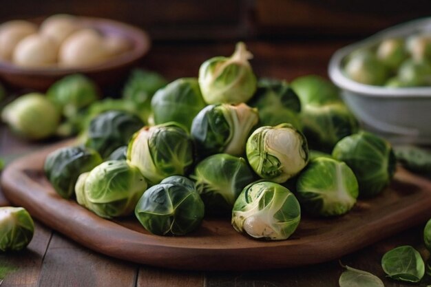
[[[48,153],[61,142],[24,156],[3,171],[1,186],[12,204],[37,220],[105,255],[140,264],[189,270],[262,270],[326,262],[421,224],[431,217],[431,182],[404,169],[372,200],[359,200],[342,217],[303,216],[297,231],[276,242],[237,233],[229,218],[205,219],[182,237],[151,235],[134,217],[105,220],[55,193],[43,175]]]

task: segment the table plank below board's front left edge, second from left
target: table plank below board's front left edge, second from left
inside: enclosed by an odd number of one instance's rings
[[[39,275],[39,286],[134,287],[138,268],[112,260],[54,233]]]

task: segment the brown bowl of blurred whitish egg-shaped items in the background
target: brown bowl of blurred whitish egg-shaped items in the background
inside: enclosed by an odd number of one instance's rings
[[[76,73],[112,83],[149,46],[145,31],[111,19],[54,14],[7,21],[0,23],[0,77],[37,90]]]

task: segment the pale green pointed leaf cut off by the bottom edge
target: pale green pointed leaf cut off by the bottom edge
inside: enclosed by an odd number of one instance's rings
[[[346,266],[338,280],[339,287],[384,287],[385,285],[376,275]]]

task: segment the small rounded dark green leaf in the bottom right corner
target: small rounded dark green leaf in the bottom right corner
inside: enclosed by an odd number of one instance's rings
[[[381,267],[392,279],[419,282],[425,274],[425,264],[412,246],[399,246],[381,257]]]

